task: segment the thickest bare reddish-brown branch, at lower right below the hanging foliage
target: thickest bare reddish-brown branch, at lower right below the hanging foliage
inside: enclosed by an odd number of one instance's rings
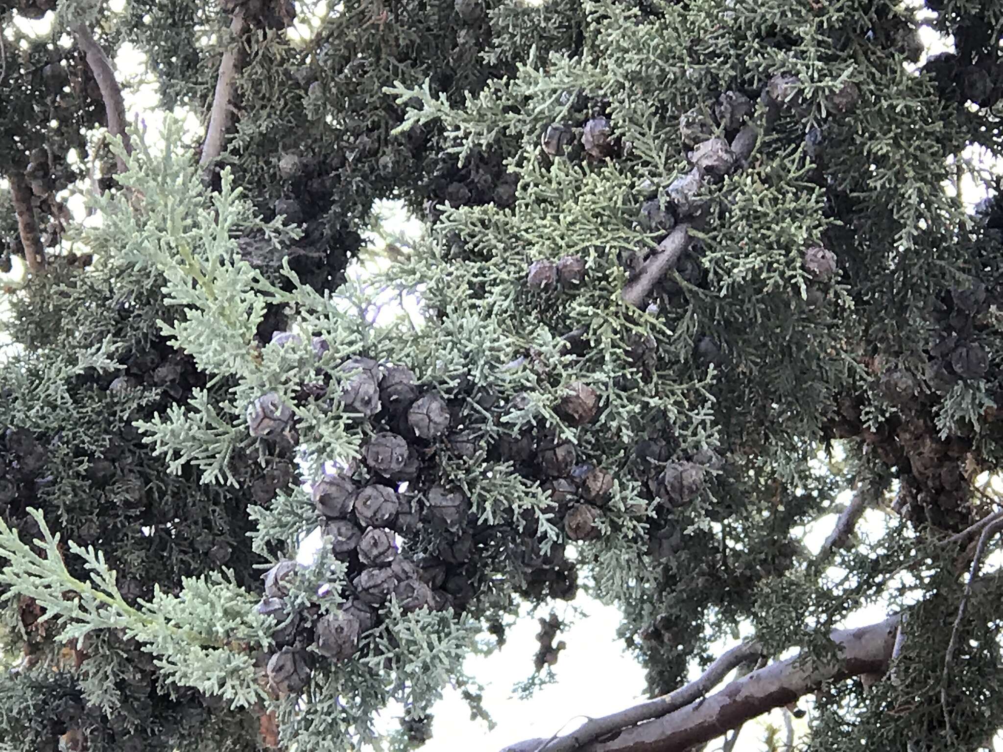
[[[625,729],[615,739],[584,747],[588,752],[682,752],[716,739],[773,708],[781,708],[817,689],[888,668],[899,616],[856,630],[839,630],[831,639],[841,647],[838,660],[819,664],[799,656],[779,661],[728,684],[706,700],[653,721]]]

